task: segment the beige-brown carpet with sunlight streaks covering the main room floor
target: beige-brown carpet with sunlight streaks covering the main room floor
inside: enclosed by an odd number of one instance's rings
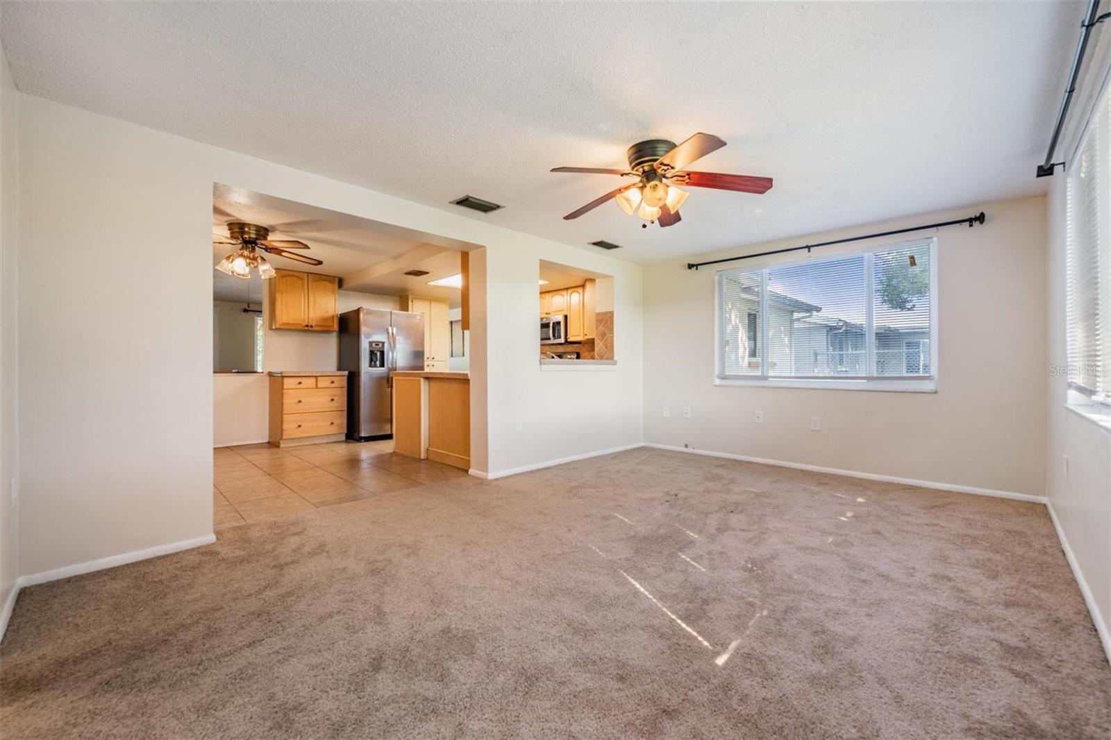
[[[1043,507],[649,449],[29,588],[0,658],[6,739],[1111,732]]]

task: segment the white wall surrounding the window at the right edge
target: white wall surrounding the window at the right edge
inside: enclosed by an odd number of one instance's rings
[[[1098,46],[1074,97],[1069,127],[1055,160],[1071,160],[1091,111],[1100,82],[1111,69],[1111,34],[1097,34]],[[1058,169],[1050,181],[1048,274],[1048,362],[1068,364],[1065,347],[1065,183]],[[1045,488],[1060,527],[1062,544],[1073,557],[1074,569],[1111,659],[1111,432],[1064,406],[1067,378],[1047,372],[1049,419]],[[1069,474],[1064,458],[1069,458]]]

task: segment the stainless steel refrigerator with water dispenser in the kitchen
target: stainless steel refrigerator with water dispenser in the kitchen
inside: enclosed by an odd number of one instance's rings
[[[340,314],[340,370],[348,371],[348,439],[393,433],[393,370],[424,369],[424,317],[359,308]]]

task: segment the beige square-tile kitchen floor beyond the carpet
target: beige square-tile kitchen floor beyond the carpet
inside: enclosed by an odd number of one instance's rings
[[[220,447],[212,451],[212,467],[217,531],[467,476],[394,454],[392,440]]]

